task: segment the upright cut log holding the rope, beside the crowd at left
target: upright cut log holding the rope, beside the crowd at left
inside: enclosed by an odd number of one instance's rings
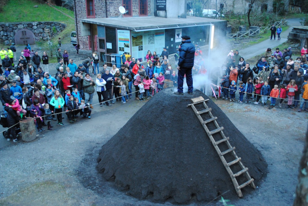
[[[22,133],[22,141],[31,142],[36,139],[36,130],[32,117],[27,117],[27,119],[19,121],[19,124]]]

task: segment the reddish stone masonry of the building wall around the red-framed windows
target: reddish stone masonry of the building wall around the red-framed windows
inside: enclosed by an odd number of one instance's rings
[[[148,15],[151,15],[151,2],[148,0]],[[118,17],[120,15],[119,7],[123,6],[122,1],[119,0],[107,0],[107,17]],[[94,0],[95,18],[106,18],[106,4],[105,0]],[[132,0],[133,16],[139,16],[139,0]],[[76,0],[77,12],[77,29],[80,49],[89,49],[88,37],[80,36],[81,26],[80,20],[87,18],[86,2],[84,0]]]

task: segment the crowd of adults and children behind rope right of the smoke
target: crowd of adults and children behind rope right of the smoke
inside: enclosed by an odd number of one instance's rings
[[[261,103],[275,106],[276,99],[280,98],[278,106],[287,102],[286,108],[298,108],[308,111],[308,65],[307,46],[301,50],[301,56],[292,58],[292,48],[283,49],[283,53],[276,48],[266,49],[265,54],[250,68],[238,50],[230,51],[223,65],[224,75],[220,82],[222,99],[234,101],[234,94],[239,92],[239,103]],[[295,58],[294,58],[295,59]],[[237,87],[238,84],[238,87]],[[244,95],[245,100],[244,100]],[[260,101],[261,99],[261,101]]]

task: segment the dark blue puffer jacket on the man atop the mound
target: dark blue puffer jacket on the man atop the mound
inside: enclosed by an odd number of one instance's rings
[[[195,58],[195,46],[192,44],[190,39],[182,42],[179,51],[180,58],[177,65],[189,69],[193,68]]]

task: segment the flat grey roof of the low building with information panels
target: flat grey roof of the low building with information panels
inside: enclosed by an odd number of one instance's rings
[[[81,19],[81,22],[97,24],[102,26],[116,27],[125,30],[151,30],[151,29],[166,29],[188,26],[203,26],[205,24],[221,22],[212,18],[201,18],[187,16],[187,18],[163,18],[156,16],[147,17],[122,17],[122,18],[87,18]]]

